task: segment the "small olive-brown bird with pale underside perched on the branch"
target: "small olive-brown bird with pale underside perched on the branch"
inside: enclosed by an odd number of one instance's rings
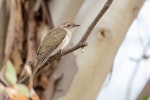
[[[51,29],[46,34],[36,53],[38,63],[35,66],[36,68],[33,75],[38,71],[41,65],[48,61],[49,57],[65,49],[69,44],[75,29],[79,26],[80,25],[72,22],[65,22],[58,27]]]

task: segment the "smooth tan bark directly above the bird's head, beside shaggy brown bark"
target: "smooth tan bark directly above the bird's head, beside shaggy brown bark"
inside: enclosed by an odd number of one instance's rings
[[[73,21],[84,0],[51,0],[50,10],[54,25]]]

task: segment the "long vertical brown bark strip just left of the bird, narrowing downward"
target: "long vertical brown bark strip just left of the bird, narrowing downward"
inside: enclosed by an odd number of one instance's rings
[[[36,4],[36,3],[35,3]],[[24,31],[24,33],[26,33],[25,35],[25,41],[26,41],[26,49],[27,52],[24,56],[26,56],[26,62],[25,62],[25,66],[27,65],[27,63],[34,58],[34,53],[36,52],[36,46],[35,46],[35,29],[36,29],[36,20],[34,19],[34,1],[26,1],[24,3],[24,12],[27,13],[26,16],[24,16],[24,27],[26,28]],[[28,7],[27,7],[28,5]],[[24,47],[25,48],[25,47]],[[24,67],[25,68],[25,67]],[[19,77],[24,76],[24,74],[26,74],[26,70],[24,70],[24,68],[22,69],[22,71],[20,72]]]

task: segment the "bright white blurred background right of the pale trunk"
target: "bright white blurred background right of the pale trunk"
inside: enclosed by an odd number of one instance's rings
[[[150,0],[145,0],[117,52],[112,73],[108,75],[97,100],[136,100],[146,85],[150,90],[149,9]]]

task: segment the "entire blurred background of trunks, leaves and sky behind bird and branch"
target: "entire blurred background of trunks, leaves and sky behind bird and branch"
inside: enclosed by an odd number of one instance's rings
[[[0,100],[148,100],[150,0],[113,0],[110,7],[107,1],[0,0]],[[20,82],[50,29],[80,24],[65,49],[73,47],[104,5],[109,9],[87,47],[48,65],[33,85]]]

